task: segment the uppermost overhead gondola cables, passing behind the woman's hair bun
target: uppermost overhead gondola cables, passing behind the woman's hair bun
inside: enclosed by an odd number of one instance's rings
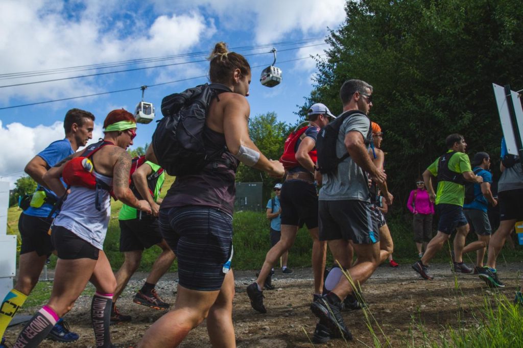
[[[257,49],[264,49],[264,48],[270,48],[270,47],[282,47],[282,46],[285,47],[285,46],[294,45],[294,44],[311,43],[311,42],[320,41],[320,40],[323,41],[324,38],[310,38],[310,39],[301,39],[301,40],[293,40],[293,41],[274,42],[274,43],[268,43],[268,44],[263,44],[263,45],[235,47],[235,48],[231,48],[230,50],[231,51],[232,50],[253,51],[253,50],[257,50]],[[200,51],[200,52],[182,53],[182,54],[168,55],[168,56],[161,56],[161,57],[148,57],[148,58],[132,59],[132,60],[125,60],[125,61],[118,61],[118,62],[110,62],[110,63],[97,63],[97,64],[79,65],[79,66],[71,66],[71,67],[64,67],[64,68],[44,69],[44,70],[40,70],[40,71],[6,73],[6,74],[0,74],[0,79],[13,79],[13,78],[21,78],[21,77],[33,77],[33,76],[43,76],[43,75],[51,75],[51,74],[61,74],[61,73],[65,73],[65,72],[88,71],[88,70],[93,70],[93,69],[105,69],[105,68],[118,67],[118,66],[124,66],[124,65],[136,65],[136,64],[161,62],[161,61],[166,61],[166,60],[173,60],[173,59],[180,59],[180,58],[187,58],[187,57],[203,56],[203,55],[208,55],[208,54],[209,54],[209,52]]]

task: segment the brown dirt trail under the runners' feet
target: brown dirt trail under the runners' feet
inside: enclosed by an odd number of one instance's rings
[[[512,298],[519,287],[521,263],[499,264],[500,278],[507,285],[502,293]],[[458,315],[465,325],[472,325],[472,314],[479,314],[483,296],[492,297],[492,291],[474,275],[457,277],[459,289],[454,287],[454,277],[448,264],[431,265],[430,272],[434,281],[419,278],[410,265],[403,264],[392,269],[384,264],[363,286],[369,312],[379,323],[380,328],[371,318],[373,329],[382,344],[389,340],[393,347],[402,347],[407,342],[416,346],[423,343],[423,332],[418,324],[424,323],[429,337],[437,338],[449,324],[456,326]],[[245,288],[254,281],[255,271],[235,271],[236,295],[234,298],[233,321],[238,347],[311,347],[310,342],[317,322],[309,306],[312,300],[313,280],[310,268],[295,269],[294,274],[282,274],[276,270],[273,284],[274,291],[265,291],[267,314],[259,314],[249,304]],[[51,273],[52,276],[52,273]],[[111,326],[111,337],[114,343],[123,347],[136,346],[143,333],[164,312],[149,309],[132,303],[132,296],[139,288],[145,273],[137,273],[130,281],[126,291],[118,300],[118,308],[124,314],[133,316],[130,323]],[[157,284],[158,294],[169,303],[175,301],[175,284],[177,273],[169,273]],[[90,286],[90,285],[89,285]],[[458,302],[462,310],[458,311]],[[81,338],[72,344],[57,344],[44,341],[41,347],[94,347],[93,331],[89,318],[90,297],[78,299],[73,310],[65,319],[71,329],[78,332]],[[32,315],[39,307],[25,308],[20,314]],[[344,319],[354,336],[350,346],[373,346],[365,316],[362,311],[346,312]],[[413,324],[413,321],[415,322]],[[21,326],[9,328],[6,338],[16,340]],[[411,330],[412,329],[412,330]],[[181,347],[210,347],[205,322],[192,330]],[[343,340],[331,340],[317,346],[344,347]]]

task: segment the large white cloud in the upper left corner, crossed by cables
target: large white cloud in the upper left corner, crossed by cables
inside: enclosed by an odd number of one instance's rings
[[[184,53],[216,31],[212,20],[195,11],[158,16],[146,27],[143,18],[150,19],[147,9],[122,16],[116,1],[59,5],[43,0],[4,0],[0,2],[0,13],[10,14],[0,21],[2,69],[9,73]],[[117,15],[119,17],[113,19]],[[1,79],[0,85],[92,73],[94,71]],[[101,80],[82,78],[3,88],[0,102],[6,103],[14,97],[40,101],[93,94],[107,90],[107,81]]]

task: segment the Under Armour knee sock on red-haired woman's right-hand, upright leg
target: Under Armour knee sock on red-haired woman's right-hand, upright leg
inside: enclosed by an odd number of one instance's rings
[[[111,319],[112,294],[99,294],[93,296],[91,302],[91,319],[95,331],[97,347],[110,348],[111,335],[109,321]]]

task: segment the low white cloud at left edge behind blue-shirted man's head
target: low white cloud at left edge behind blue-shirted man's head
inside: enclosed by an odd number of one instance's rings
[[[101,124],[95,124],[93,141],[102,137]],[[23,172],[31,158],[55,140],[64,138],[63,122],[28,127],[14,122],[5,127],[0,120],[0,180],[13,182],[25,175]]]

